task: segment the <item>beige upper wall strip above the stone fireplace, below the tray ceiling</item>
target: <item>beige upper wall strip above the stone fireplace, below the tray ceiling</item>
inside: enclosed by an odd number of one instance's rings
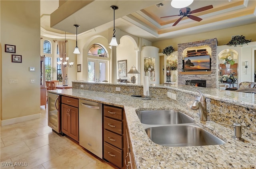
[[[187,43],[187,42],[195,42],[200,40],[217,38],[218,46],[227,44],[233,35],[244,35],[247,40],[252,39],[252,41],[256,41],[256,24],[237,26],[234,28],[216,30],[212,32],[206,32],[202,34],[195,34],[189,36],[182,36],[179,38],[173,38],[168,40],[161,40],[157,42],[153,42],[153,46],[160,48],[159,52],[162,52],[166,46],[172,45],[175,50],[178,50],[178,44]]]

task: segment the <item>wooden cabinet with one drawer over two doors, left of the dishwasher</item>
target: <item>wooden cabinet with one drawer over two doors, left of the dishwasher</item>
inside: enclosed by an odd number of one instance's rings
[[[62,132],[79,141],[78,99],[62,96]]]

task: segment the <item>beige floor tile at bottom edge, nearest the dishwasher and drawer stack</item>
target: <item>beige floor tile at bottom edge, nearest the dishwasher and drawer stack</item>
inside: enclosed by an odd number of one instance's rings
[[[89,158],[80,151],[72,151],[71,153],[65,153],[55,159],[47,161],[42,165],[46,169],[80,169],[94,160],[95,158]]]

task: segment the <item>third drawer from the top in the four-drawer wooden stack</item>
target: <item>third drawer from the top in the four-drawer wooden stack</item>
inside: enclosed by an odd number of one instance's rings
[[[104,130],[104,141],[122,149],[122,135]]]

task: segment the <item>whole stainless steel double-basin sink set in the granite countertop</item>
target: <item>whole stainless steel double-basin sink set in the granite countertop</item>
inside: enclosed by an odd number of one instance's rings
[[[156,144],[169,147],[219,145],[225,142],[199,127],[194,119],[176,110],[136,112],[148,137]]]

